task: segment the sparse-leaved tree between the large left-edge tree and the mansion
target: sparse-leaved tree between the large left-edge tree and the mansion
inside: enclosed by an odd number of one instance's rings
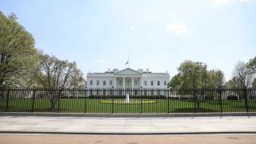
[[[61,95],[61,90],[70,86],[70,78],[76,74],[77,66],[75,62],[59,60],[54,56],[42,55],[36,78],[38,83],[45,89],[50,90],[51,109],[54,109]],[[56,92],[56,89],[59,89]]]

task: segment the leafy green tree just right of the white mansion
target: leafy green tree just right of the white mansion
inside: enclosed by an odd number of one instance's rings
[[[224,85],[222,70],[207,70],[207,65],[203,62],[182,62],[178,71],[178,76],[175,75],[170,80],[170,86],[179,86],[181,89],[219,89]],[[194,91],[193,95],[199,108],[205,95],[204,91]]]

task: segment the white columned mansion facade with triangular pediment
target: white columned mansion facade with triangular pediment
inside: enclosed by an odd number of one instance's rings
[[[168,73],[151,73],[149,70],[124,70],[106,71],[105,73],[88,73],[87,88],[167,88],[170,80]]]

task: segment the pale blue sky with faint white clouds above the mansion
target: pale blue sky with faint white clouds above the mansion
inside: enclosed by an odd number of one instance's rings
[[[255,0],[0,0],[46,54],[86,73],[149,68],[177,74],[185,60],[206,62],[228,80],[256,56]]]

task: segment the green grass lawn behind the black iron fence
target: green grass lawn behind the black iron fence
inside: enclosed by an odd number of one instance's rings
[[[32,103],[32,98],[10,99],[7,111],[30,112]],[[248,105],[249,112],[256,112],[256,100],[250,100]],[[57,102],[55,108],[50,110],[48,98],[34,99],[34,112],[58,112],[58,110],[60,113],[101,114],[205,113],[221,112],[221,105],[216,100],[206,100],[200,102],[199,108],[194,109],[194,102],[191,100],[136,98],[130,99],[130,103],[125,103],[125,99],[120,98],[62,98],[60,103]],[[6,111],[6,100],[0,101],[0,112],[3,111]],[[222,112],[246,112],[245,102],[223,100]]]

